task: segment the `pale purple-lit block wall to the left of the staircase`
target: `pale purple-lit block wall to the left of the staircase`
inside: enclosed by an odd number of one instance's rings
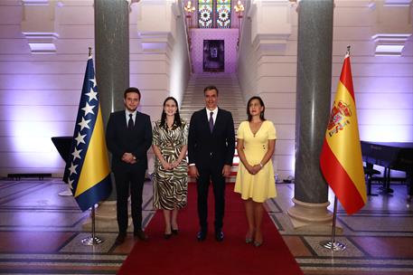
[[[51,137],[73,134],[88,47],[94,47],[92,4],[66,0],[23,7],[20,0],[0,1],[0,176],[62,175],[64,162]],[[140,35],[138,24],[145,27],[153,14],[136,4],[129,14],[130,85],[142,91],[140,110],[152,120],[160,117],[164,98],[172,94],[182,100],[190,74],[180,4],[164,1],[167,32]],[[56,33],[57,39],[26,37],[25,31]],[[33,42],[48,43],[55,51],[33,54],[28,44]]]

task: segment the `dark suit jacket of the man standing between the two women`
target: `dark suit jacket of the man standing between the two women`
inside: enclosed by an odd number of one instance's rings
[[[232,166],[235,152],[234,121],[229,111],[218,109],[211,133],[206,109],[192,114],[188,136],[189,163],[198,168],[205,166]]]

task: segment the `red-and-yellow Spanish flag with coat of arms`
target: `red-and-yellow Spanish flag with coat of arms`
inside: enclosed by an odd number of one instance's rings
[[[325,132],[320,166],[346,213],[356,213],[366,204],[367,194],[361,158],[350,52],[344,58],[330,120]]]

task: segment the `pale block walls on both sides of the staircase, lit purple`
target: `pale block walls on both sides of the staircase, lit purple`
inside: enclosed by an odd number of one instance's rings
[[[94,19],[91,0],[49,2],[52,6],[42,12],[45,16],[33,18],[23,13],[22,1],[0,1],[0,175],[62,174],[64,163],[51,137],[72,135],[88,47],[94,46]],[[258,94],[266,102],[266,115],[277,127],[275,168],[286,178],[294,175],[296,6],[287,0],[252,3],[264,9],[244,14],[239,83],[247,100]],[[412,37],[401,56],[375,56],[377,42],[371,38],[377,33],[411,33],[411,1],[409,7],[370,0],[334,3],[332,93],[346,46],[351,44],[361,139],[412,141]],[[249,7],[250,2],[244,5]],[[164,22],[145,17],[152,16],[149,11],[154,8],[164,14],[157,17]],[[166,96],[179,100],[189,78],[179,10],[174,1],[142,0],[132,5],[130,84],[143,91],[141,110],[153,120],[159,118]],[[263,16],[254,17],[262,11]],[[31,52],[28,43],[33,37],[22,33],[22,23],[24,28],[38,27],[31,20],[40,20],[41,27],[58,34],[57,39],[46,39],[55,53]]]

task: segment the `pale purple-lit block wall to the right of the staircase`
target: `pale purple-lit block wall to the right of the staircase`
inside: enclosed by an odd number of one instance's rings
[[[277,128],[275,169],[286,178],[294,175],[295,163],[298,14],[296,5],[288,1],[253,3],[247,5],[243,20],[239,83],[246,100],[257,94],[266,103],[266,115]],[[363,0],[335,0],[334,4],[332,100],[350,44],[361,139],[413,141],[412,37],[401,56],[375,56],[372,39],[376,33],[411,34],[411,1],[410,6]],[[265,20],[262,13],[270,9],[278,9],[285,22]]]

